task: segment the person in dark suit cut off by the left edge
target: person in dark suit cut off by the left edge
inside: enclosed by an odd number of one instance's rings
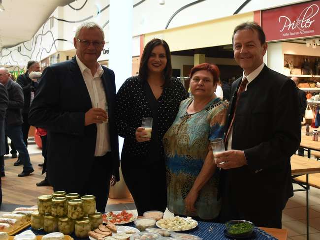
[[[5,141],[4,141],[4,118],[8,107],[8,92],[6,88],[0,83],[0,160],[4,165],[3,155],[5,154]],[[1,176],[2,177],[2,176]],[[0,178],[0,206],[2,204],[2,187]]]

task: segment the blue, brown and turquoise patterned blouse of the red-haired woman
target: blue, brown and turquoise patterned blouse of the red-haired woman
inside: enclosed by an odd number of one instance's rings
[[[210,140],[224,138],[228,103],[215,98],[200,112],[188,115],[187,108],[192,100],[191,97],[181,102],[176,119],[163,137],[168,209],[178,215],[213,219],[221,207],[217,201],[219,169],[200,190],[195,202],[196,214],[185,209],[184,199],[211,149]]]

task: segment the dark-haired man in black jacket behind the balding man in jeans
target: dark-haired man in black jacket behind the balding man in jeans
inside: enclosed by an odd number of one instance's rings
[[[17,78],[17,83],[22,87],[23,95],[25,99],[25,105],[22,111],[22,119],[23,119],[22,133],[23,133],[23,141],[25,145],[28,147],[28,134],[30,129],[28,116],[29,116],[30,105],[34,97],[34,92],[36,87],[38,86],[37,79],[31,79],[29,77],[29,74],[31,72],[40,72],[40,64],[37,61],[33,61],[33,60],[28,61],[27,69],[28,70],[24,74],[21,74]],[[18,160],[14,163],[14,166],[19,166],[21,164],[22,162],[20,161],[20,157],[19,157]]]

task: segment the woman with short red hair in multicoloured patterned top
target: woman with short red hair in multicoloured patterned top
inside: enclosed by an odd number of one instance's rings
[[[210,140],[224,138],[228,104],[216,96],[219,68],[202,63],[190,72],[192,97],[163,137],[167,173],[168,209],[204,220],[215,219],[219,169],[213,161]]]

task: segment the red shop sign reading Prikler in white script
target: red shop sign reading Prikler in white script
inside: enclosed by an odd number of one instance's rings
[[[267,41],[320,35],[320,0],[262,11]]]

